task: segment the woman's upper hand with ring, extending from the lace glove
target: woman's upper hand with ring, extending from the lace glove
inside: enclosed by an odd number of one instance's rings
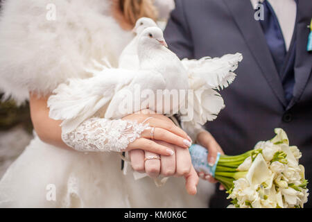
[[[154,128],[154,132],[152,133],[153,139],[155,140],[174,144],[181,148],[185,148],[186,150],[191,146],[191,138],[187,133],[181,128],[175,126],[168,117],[164,117],[162,114],[144,114],[140,112],[137,114],[130,114],[127,117],[124,117],[123,120],[137,121],[137,123],[148,123],[150,126],[150,128],[141,133],[139,139],[135,139],[134,142],[130,143],[125,151],[132,151],[139,148],[159,155],[173,155],[174,152],[171,148],[151,140],[152,128]]]

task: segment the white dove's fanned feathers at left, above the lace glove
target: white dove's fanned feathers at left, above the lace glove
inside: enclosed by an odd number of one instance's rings
[[[49,116],[62,120],[62,126],[73,130],[110,103],[121,88],[129,85],[136,73],[125,69],[105,69],[92,78],[70,79],[60,84],[49,97]]]

